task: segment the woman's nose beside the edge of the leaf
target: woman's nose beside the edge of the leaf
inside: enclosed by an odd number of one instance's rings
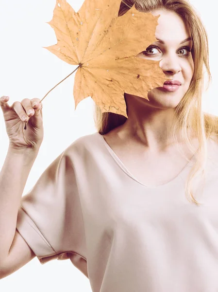
[[[165,55],[161,59],[159,66],[166,75],[175,75],[182,71],[178,57],[174,57],[173,54]]]

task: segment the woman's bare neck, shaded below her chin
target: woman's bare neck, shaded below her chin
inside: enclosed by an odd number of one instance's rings
[[[129,95],[130,98],[128,95],[126,97],[128,119],[122,127],[125,134],[143,144],[151,152],[166,150],[173,143],[168,132],[175,110],[149,106],[143,103],[140,97],[136,97],[136,101],[133,95]],[[180,134],[177,139],[181,141]]]

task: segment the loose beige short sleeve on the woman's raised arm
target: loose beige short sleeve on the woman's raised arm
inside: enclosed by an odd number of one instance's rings
[[[67,259],[69,253],[84,257],[81,202],[73,159],[66,150],[21,198],[17,230],[41,264]]]

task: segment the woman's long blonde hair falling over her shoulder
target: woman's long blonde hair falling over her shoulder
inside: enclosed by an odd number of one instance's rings
[[[126,13],[133,5],[139,11],[150,12],[154,9],[167,9],[176,12],[183,20],[187,28],[190,29],[193,39],[192,57],[194,61],[194,72],[188,91],[183,99],[175,108],[175,118],[169,133],[173,137],[174,143],[178,144],[178,131],[182,133],[182,139],[192,153],[196,154],[188,129],[192,129],[199,142],[198,156],[196,163],[190,170],[188,179],[185,183],[185,195],[187,200],[196,205],[201,205],[193,196],[192,183],[198,176],[205,178],[205,165],[207,161],[207,140],[217,139],[218,136],[218,117],[202,111],[202,91],[204,85],[204,66],[208,76],[208,87],[211,82],[209,69],[208,36],[201,22],[201,18],[194,10],[192,5],[186,0],[122,0],[118,16]],[[207,88],[208,88],[207,87]],[[103,112],[94,105],[94,122],[97,131],[102,135],[110,130],[117,128],[125,123],[126,117],[112,112]],[[213,138],[214,137],[214,138]],[[217,141],[217,140],[216,140]]]

